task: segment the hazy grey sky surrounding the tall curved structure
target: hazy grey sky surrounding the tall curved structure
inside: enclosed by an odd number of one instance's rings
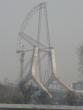
[[[0,0],[0,80],[18,79],[16,40],[27,12],[44,0]],[[67,84],[79,78],[77,48],[83,41],[83,0],[47,0],[57,73]],[[17,77],[17,78],[16,78]]]

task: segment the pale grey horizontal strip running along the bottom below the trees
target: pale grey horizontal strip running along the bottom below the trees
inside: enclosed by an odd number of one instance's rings
[[[20,108],[35,110],[83,110],[83,106],[35,105],[35,104],[0,104],[0,108]]]

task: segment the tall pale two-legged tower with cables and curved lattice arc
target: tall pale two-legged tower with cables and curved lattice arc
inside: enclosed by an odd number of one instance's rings
[[[17,45],[16,52],[20,55],[20,85],[36,85],[50,98],[53,97],[51,91],[71,91],[56,76],[56,52],[50,42],[46,2],[38,4],[27,14],[20,28]]]

